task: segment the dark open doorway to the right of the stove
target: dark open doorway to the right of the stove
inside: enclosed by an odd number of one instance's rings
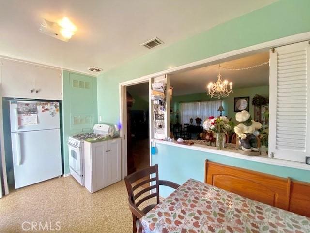
[[[150,165],[149,82],[127,86],[127,174]]]

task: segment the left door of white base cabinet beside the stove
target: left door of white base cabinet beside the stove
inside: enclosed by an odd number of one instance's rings
[[[107,143],[99,142],[92,145],[92,191],[95,192],[109,185]]]

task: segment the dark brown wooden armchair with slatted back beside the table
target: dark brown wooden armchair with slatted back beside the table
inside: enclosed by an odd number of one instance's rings
[[[154,174],[150,179],[150,175]],[[137,184],[137,181],[147,177],[146,180],[141,181]],[[158,165],[155,164],[154,166],[150,166],[146,169],[136,171],[129,176],[124,178],[127,192],[128,192],[128,202],[129,202],[129,209],[132,212],[132,221],[133,221],[133,233],[137,232],[137,219],[140,219],[144,215],[147,214],[151,209],[153,209],[157,204],[159,204],[159,185],[165,185],[174,189],[177,189],[180,185],[177,183],[173,183],[171,181],[163,181],[158,179]],[[152,185],[147,188],[143,188],[142,185],[152,182]],[[132,184],[134,183],[134,186]],[[138,189],[138,190],[137,190]],[[142,194],[146,193],[147,191],[155,189],[156,192],[149,194],[139,201],[136,202],[137,198],[140,197]],[[134,191],[137,190],[138,192],[134,194]],[[146,200],[150,198],[156,197],[156,204],[151,204],[146,206],[144,209],[140,210],[138,207]]]

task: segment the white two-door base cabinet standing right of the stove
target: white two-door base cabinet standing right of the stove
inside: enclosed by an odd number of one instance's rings
[[[121,139],[84,143],[85,188],[91,193],[121,180]]]

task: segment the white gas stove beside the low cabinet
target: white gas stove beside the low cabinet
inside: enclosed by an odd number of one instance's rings
[[[93,133],[80,133],[68,138],[70,173],[82,186],[85,186],[84,141],[90,139],[103,140],[112,137],[115,132],[114,126],[95,124]]]

